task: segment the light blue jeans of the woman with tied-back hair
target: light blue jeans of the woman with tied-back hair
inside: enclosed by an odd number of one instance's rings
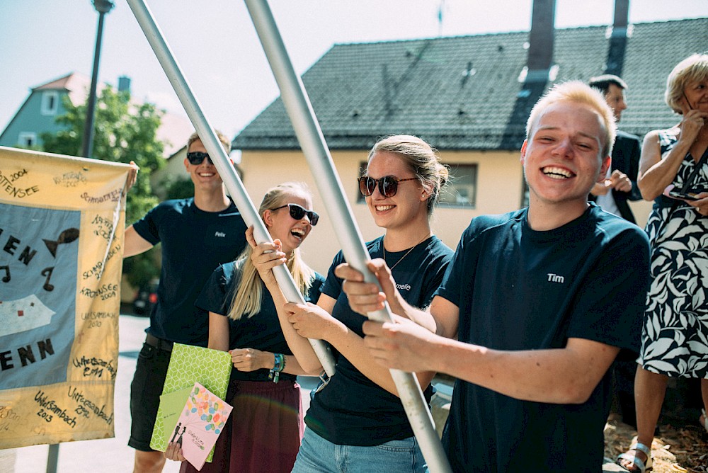
[[[415,437],[373,447],[336,445],[305,429],[292,473],[423,473],[426,460]]]

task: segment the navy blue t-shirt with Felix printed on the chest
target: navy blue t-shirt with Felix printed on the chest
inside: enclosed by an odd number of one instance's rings
[[[133,228],[151,244],[162,244],[157,304],[147,332],[163,340],[207,346],[209,318],[194,301],[212,271],[234,261],[246,246],[246,223],[236,205],[205,212],[193,198],[166,200]]]

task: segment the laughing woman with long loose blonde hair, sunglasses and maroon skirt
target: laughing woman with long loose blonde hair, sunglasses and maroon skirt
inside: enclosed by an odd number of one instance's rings
[[[302,183],[284,183],[265,193],[258,213],[273,237],[271,248],[287,264],[307,301],[316,301],[324,278],[309,268],[299,246],[319,216]],[[302,401],[296,375],[307,375],[288,348],[273,298],[253,265],[253,227],[241,256],[215,270],[195,305],[209,312],[209,348],[229,351],[232,370],[226,401],[234,406],[201,472],[290,472],[302,439]],[[272,271],[267,278],[273,278]],[[265,281],[265,283],[274,283]],[[290,331],[292,328],[286,327]],[[316,374],[316,372],[310,373]],[[184,460],[176,444],[165,455]],[[181,472],[197,471],[183,461]]]

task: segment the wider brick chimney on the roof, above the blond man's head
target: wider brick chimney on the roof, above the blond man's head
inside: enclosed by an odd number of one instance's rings
[[[525,82],[546,82],[553,65],[556,0],[533,0]]]

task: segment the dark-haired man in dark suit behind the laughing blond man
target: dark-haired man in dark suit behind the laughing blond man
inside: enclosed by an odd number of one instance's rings
[[[624,91],[627,84],[612,74],[605,74],[590,79],[590,87],[598,89],[605,96],[605,101],[615,113],[619,123],[622,110],[627,108]],[[636,186],[636,174],[639,172],[639,137],[617,130],[617,139],[612,148],[612,165],[607,170],[605,181],[596,183],[590,190],[590,200],[595,200],[603,210],[636,223],[627,200],[640,200],[641,194]]]

